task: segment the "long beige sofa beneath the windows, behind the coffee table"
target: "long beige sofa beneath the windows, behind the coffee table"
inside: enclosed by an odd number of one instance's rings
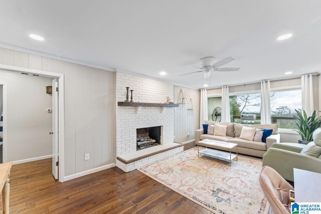
[[[215,124],[215,122],[206,120],[205,124]],[[224,122],[220,122],[217,124],[227,126],[226,136],[204,134],[203,128],[197,129],[195,131],[196,145],[198,145],[198,142],[200,140],[204,140],[204,139],[237,143],[239,153],[252,155],[252,156],[256,156],[256,157],[262,157],[263,154],[267,151],[267,149],[273,143],[280,142],[280,135],[277,133],[277,128],[278,128],[277,124],[241,125],[241,124],[237,124],[237,123],[224,123]],[[245,140],[245,139],[240,138],[240,134],[241,134],[243,126],[253,127],[253,128],[262,128],[262,129],[272,129],[273,132],[270,136],[268,136],[266,138],[266,143],[265,142],[250,141],[250,140]],[[202,143],[200,143],[200,146],[202,146]],[[215,147],[213,147],[213,148],[215,148]],[[232,149],[232,151],[236,152],[236,148]]]

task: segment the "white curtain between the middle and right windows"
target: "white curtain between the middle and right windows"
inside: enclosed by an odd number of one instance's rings
[[[261,124],[271,124],[270,81],[261,81]]]

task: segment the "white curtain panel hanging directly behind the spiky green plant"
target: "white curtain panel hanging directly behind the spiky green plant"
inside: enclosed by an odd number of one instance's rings
[[[302,109],[309,115],[313,111],[312,74],[301,76]]]

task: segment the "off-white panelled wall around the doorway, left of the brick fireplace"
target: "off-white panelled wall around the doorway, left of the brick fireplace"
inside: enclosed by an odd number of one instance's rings
[[[65,75],[65,176],[115,163],[114,72],[5,48],[0,64]]]

